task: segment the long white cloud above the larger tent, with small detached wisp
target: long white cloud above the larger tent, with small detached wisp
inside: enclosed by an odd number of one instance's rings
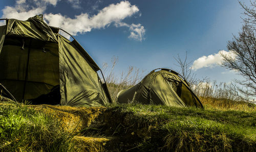
[[[93,16],[89,16],[87,13],[82,13],[76,15],[75,18],[70,18],[61,14],[50,13],[45,14],[44,18],[51,26],[59,27],[63,30],[65,29],[70,34],[76,35],[77,33],[90,32],[92,29],[108,27],[112,22],[119,23],[124,18],[132,16],[138,11],[139,9],[135,5],[132,6],[129,2],[122,1],[103,8],[98,14]],[[144,30],[144,27],[140,24],[139,26],[132,24],[132,26],[129,27],[130,29],[132,28],[137,35],[141,34],[139,32]],[[140,36],[142,36],[142,34]]]

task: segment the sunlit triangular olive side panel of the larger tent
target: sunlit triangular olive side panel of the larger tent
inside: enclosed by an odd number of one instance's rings
[[[66,105],[67,102],[72,106],[107,104],[108,99],[101,87],[97,72],[87,59],[79,54],[83,50],[78,49],[61,35],[58,40],[59,48],[62,50],[59,52],[61,104]]]

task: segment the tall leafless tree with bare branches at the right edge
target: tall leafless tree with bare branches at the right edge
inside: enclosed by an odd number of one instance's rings
[[[222,66],[235,70],[244,80],[234,80],[238,86],[238,95],[256,97],[256,3],[251,2],[251,8],[239,2],[244,9],[244,24],[238,36],[228,41],[227,48],[233,56],[221,54]],[[241,87],[242,86],[242,87]]]

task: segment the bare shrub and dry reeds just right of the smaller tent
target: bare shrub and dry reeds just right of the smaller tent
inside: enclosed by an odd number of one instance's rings
[[[217,84],[217,81],[210,81],[207,77],[197,79],[196,74],[191,70],[191,62],[187,61],[187,54],[185,59],[182,60],[178,55],[176,60],[176,66],[179,67],[178,73],[181,77],[190,84],[191,89],[200,97],[204,98],[226,98],[229,100],[245,100],[247,102],[253,102],[253,98],[249,98],[246,95],[241,94],[238,86],[234,83]]]

